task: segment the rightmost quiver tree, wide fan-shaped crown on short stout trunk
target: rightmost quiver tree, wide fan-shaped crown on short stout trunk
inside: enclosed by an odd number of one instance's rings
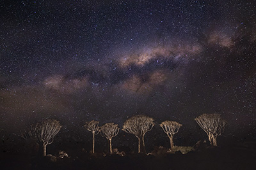
[[[227,122],[221,118],[220,114],[203,114],[195,118],[195,121],[206,132],[212,146],[217,146],[217,137],[225,129]]]

